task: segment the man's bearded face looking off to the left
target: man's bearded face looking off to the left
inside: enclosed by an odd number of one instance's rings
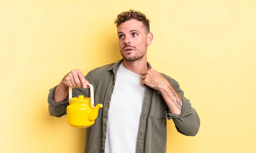
[[[144,57],[147,51],[147,36],[143,23],[135,19],[125,21],[117,28],[120,53],[126,61]]]

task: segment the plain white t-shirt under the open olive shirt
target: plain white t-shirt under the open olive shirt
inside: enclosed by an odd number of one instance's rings
[[[145,88],[140,75],[119,66],[108,111],[105,153],[135,153]]]

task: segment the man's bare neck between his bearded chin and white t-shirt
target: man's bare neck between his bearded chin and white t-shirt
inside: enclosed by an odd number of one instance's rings
[[[138,59],[138,60],[132,61],[132,62],[128,62],[128,61],[124,60],[123,65],[129,71],[132,71],[139,75],[141,75],[141,71],[148,70],[146,58],[141,58],[141,59]]]

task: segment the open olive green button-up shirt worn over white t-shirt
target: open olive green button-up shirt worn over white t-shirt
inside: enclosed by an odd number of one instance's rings
[[[116,63],[95,68],[85,76],[85,79],[94,87],[95,105],[103,104],[103,108],[99,109],[95,123],[86,129],[84,153],[104,153],[105,151],[108,110],[115,87],[116,72],[122,61],[123,59]],[[148,68],[151,68],[149,63]],[[136,153],[166,153],[166,119],[174,121],[179,133],[186,136],[195,136],[198,133],[200,119],[197,112],[191,107],[189,100],[183,96],[184,93],[178,82],[165,74],[162,75],[183,100],[181,114],[170,113],[161,92],[147,86],[140,116]],[[54,102],[55,88],[50,89],[48,95],[49,114],[61,117],[67,113],[68,96],[63,102]],[[73,97],[79,95],[89,97],[89,89],[73,88]],[[132,98],[132,96],[127,95],[124,98]],[[129,117],[129,114],[127,114],[127,117]]]

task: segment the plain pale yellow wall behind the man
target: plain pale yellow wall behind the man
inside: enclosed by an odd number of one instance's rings
[[[113,20],[130,8],[151,20],[148,61],[201,119],[195,137],[168,121],[167,152],[256,152],[255,0],[0,0],[0,153],[83,153],[86,130],[49,116],[47,94],[121,58]]]

